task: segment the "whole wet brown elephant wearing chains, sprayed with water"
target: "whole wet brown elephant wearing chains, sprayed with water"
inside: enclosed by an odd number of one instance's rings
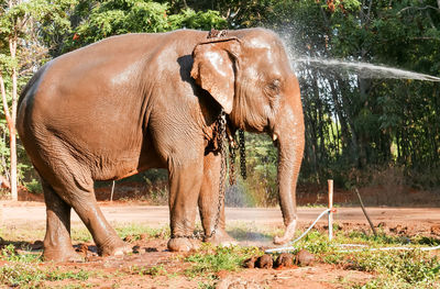
[[[100,255],[130,252],[100,211],[94,182],[148,168],[168,170],[169,251],[197,247],[190,237],[197,207],[208,236],[220,214],[207,241],[228,241],[224,203],[217,209],[221,115],[229,132],[273,138],[286,226],[275,243],[292,240],[305,143],[298,80],[275,32],[213,32],[111,36],[52,59],[28,82],[16,129],[42,179],[45,259],[78,258],[70,240],[72,209]]]

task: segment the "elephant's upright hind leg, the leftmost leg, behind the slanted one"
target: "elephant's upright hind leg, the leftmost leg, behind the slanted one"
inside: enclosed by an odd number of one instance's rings
[[[44,180],[43,190],[47,214],[43,258],[57,262],[80,260],[70,242],[70,205]]]

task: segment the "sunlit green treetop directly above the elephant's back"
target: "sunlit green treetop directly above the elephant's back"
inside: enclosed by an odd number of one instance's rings
[[[167,3],[150,0],[79,1],[70,14],[72,32],[46,37],[52,56],[124,33],[167,32],[177,29],[226,29],[218,11],[186,8],[173,13]],[[56,36],[56,37],[55,37]]]

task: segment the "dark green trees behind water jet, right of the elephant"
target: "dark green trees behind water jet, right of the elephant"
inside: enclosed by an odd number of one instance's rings
[[[417,176],[411,181],[440,184],[439,84],[326,65],[342,59],[439,76],[439,12],[435,0],[274,3],[268,26],[285,36],[305,105],[302,179],[343,184],[351,169],[403,166]]]

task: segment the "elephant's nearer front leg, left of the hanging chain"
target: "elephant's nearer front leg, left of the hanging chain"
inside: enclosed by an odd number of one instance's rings
[[[202,180],[202,157],[169,168],[169,251],[187,252],[198,248],[191,238],[197,213],[197,199]],[[183,162],[185,163],[185,162]]]

